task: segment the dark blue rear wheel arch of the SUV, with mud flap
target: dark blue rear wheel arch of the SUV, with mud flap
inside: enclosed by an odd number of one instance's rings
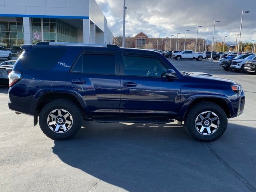
[[[76,92],[66,92],[64,91],[52,91],[52,90],[41,90],[38,91],[30,106],[30,115],[34,116],[34,126],[38,123],[38,115],[43,106],[55,99],[67,99],[71,100],[81,109],[82,113],[88,111],[88,107],[84,102],[82,96]]]

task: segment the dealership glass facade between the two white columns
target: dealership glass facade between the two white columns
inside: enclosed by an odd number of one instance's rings
[[[77,28],[59,19],[43,18],[44,41],[77,42]],[[32,18],[32,43],[42,41],[41,19]]]

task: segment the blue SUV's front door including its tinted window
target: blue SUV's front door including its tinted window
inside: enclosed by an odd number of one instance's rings
[[[180,108],[180,81],[164,76],[168,68],[156,55],[120,52],[120,113],[176,116]]]

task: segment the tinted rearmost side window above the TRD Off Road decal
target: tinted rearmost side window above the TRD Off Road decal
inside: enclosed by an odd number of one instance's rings
[[[32,70],[50,70],[60,62],[66,49],[62,48],[35,48],[24,57],[22,66]]]

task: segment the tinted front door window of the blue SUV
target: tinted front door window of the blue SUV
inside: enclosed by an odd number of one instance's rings
[[[166,68],[152,57],[123,55],[124,75],[161,77]]]

